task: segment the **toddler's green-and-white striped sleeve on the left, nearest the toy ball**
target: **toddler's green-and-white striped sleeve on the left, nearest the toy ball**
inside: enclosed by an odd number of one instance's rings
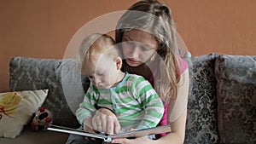
[[[76,111],[76,117],[79,120],[79,124],[83,124],[84,118],[92,117],[92,113],[96,111],[94,104],[96,103],[96,93],[93,90],[93,86],[90,85],[86,94],[84,95],[84,101],[80,103],[79,109]]]

